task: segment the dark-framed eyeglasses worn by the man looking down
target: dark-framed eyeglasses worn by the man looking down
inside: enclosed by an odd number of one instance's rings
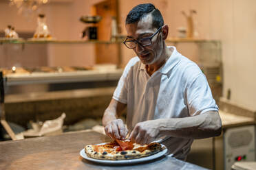
[[[136,45],[139,44],[140,46],[142,47],[145,47],[145,46],[148,46],[148,45],[151,45],[152,44],[152,38],[153,36],[156,36],[156,34],[158,34],[158,32],[160,32],[162,27],[159,27],[158,30],[152,35],[152,36],[149,36],[149,37],[146,37],[146,38],[141,38],[140,40],[127,40],[128,38],[125,39],[124,43],[125,46],[128,48],[128,49],[134,49],[136,48]]]

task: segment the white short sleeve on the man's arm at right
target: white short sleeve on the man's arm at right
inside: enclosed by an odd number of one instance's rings
[[[200,73],[188,84],[185,95],[191,116],[210,110],[218,111],[211,88],[203,73]]]

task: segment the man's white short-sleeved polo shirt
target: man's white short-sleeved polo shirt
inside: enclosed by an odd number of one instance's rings
[[[141,121],[181,118],[218,110],[206,77],[197,64],[182,56],[175,47],[167,62],[149,76],[138,57],[125,67],[113,98],[127,104],[129,132]],[[162,136],[168,154],[185,159],[193,139]]]

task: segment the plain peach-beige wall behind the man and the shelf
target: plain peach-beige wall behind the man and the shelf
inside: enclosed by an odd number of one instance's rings
[[[53,0],[42,5],[39,11],[47,16],[50,32],[58,40],[80,40],[80,34],[85,24],[78,21],[82,15],[90,15],[92,5],[100,0]],[[181,11],[196,10],[194,15],[195,30],[198,37],[222,42],[223,62],[223,95],[231,89],[231,100],[248,108],[256,108],[256,62],[255,47],[255,6],[254,0],[159,0],[159,1],[118,1],[121,34],[125,35],[125,17],[127,12],[138,3],[153,3],[160,9],[164,21],[169,25],[169,38],[178,36],[178,27],[186,27],[186,19]],[[9,6],[8,1],[0,1],[0,28],[14,25],[17,32],[34,33],[36,29],[36,14],[25,17],[17,14],[15,6]],[[71,47],[70,47],[71,46]],[[60,65],[92,65],[95,64],[94,45],[58,45],[52,51],[47,48],[47,64]],[[196,45],[182,45],[182,54],[197,60]],[[191,47],[192,46],[192,47]],[[178,45],[179,47],[179,45]],[[134,56],[133,51],[122,47],[122,66]],[[56,53],[58,58],[55,58]],[[1,66],[3,63],[3,51]],[[86,54],[86,55],[85,55]],[[34,59],[33,59],[34,58]],[[24,58],[25,59],[25,58]],[[39,60],[32,56],[30,60]],[[115,62],[115,61],[114,61]]]

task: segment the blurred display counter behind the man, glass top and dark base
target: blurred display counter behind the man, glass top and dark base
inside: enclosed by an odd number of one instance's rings
[[[196,47],[195,62],[209,80],[215,99],[220,97],[221,42],[189,38],[166,42],[177,48]],[[101,51],[95,52],[98,45]],[[109,49],[114,49],[110,59]],[[122,47],[122,40],[0,40],[1,112],[6,111],[6,120],[23,127],[31,119],[47,120],[61,112],[67,114],[67,125],[85,114],[98,119],[109,104],[131,52]],[[98,62],[97,57],[104,58],[103,62]]]

